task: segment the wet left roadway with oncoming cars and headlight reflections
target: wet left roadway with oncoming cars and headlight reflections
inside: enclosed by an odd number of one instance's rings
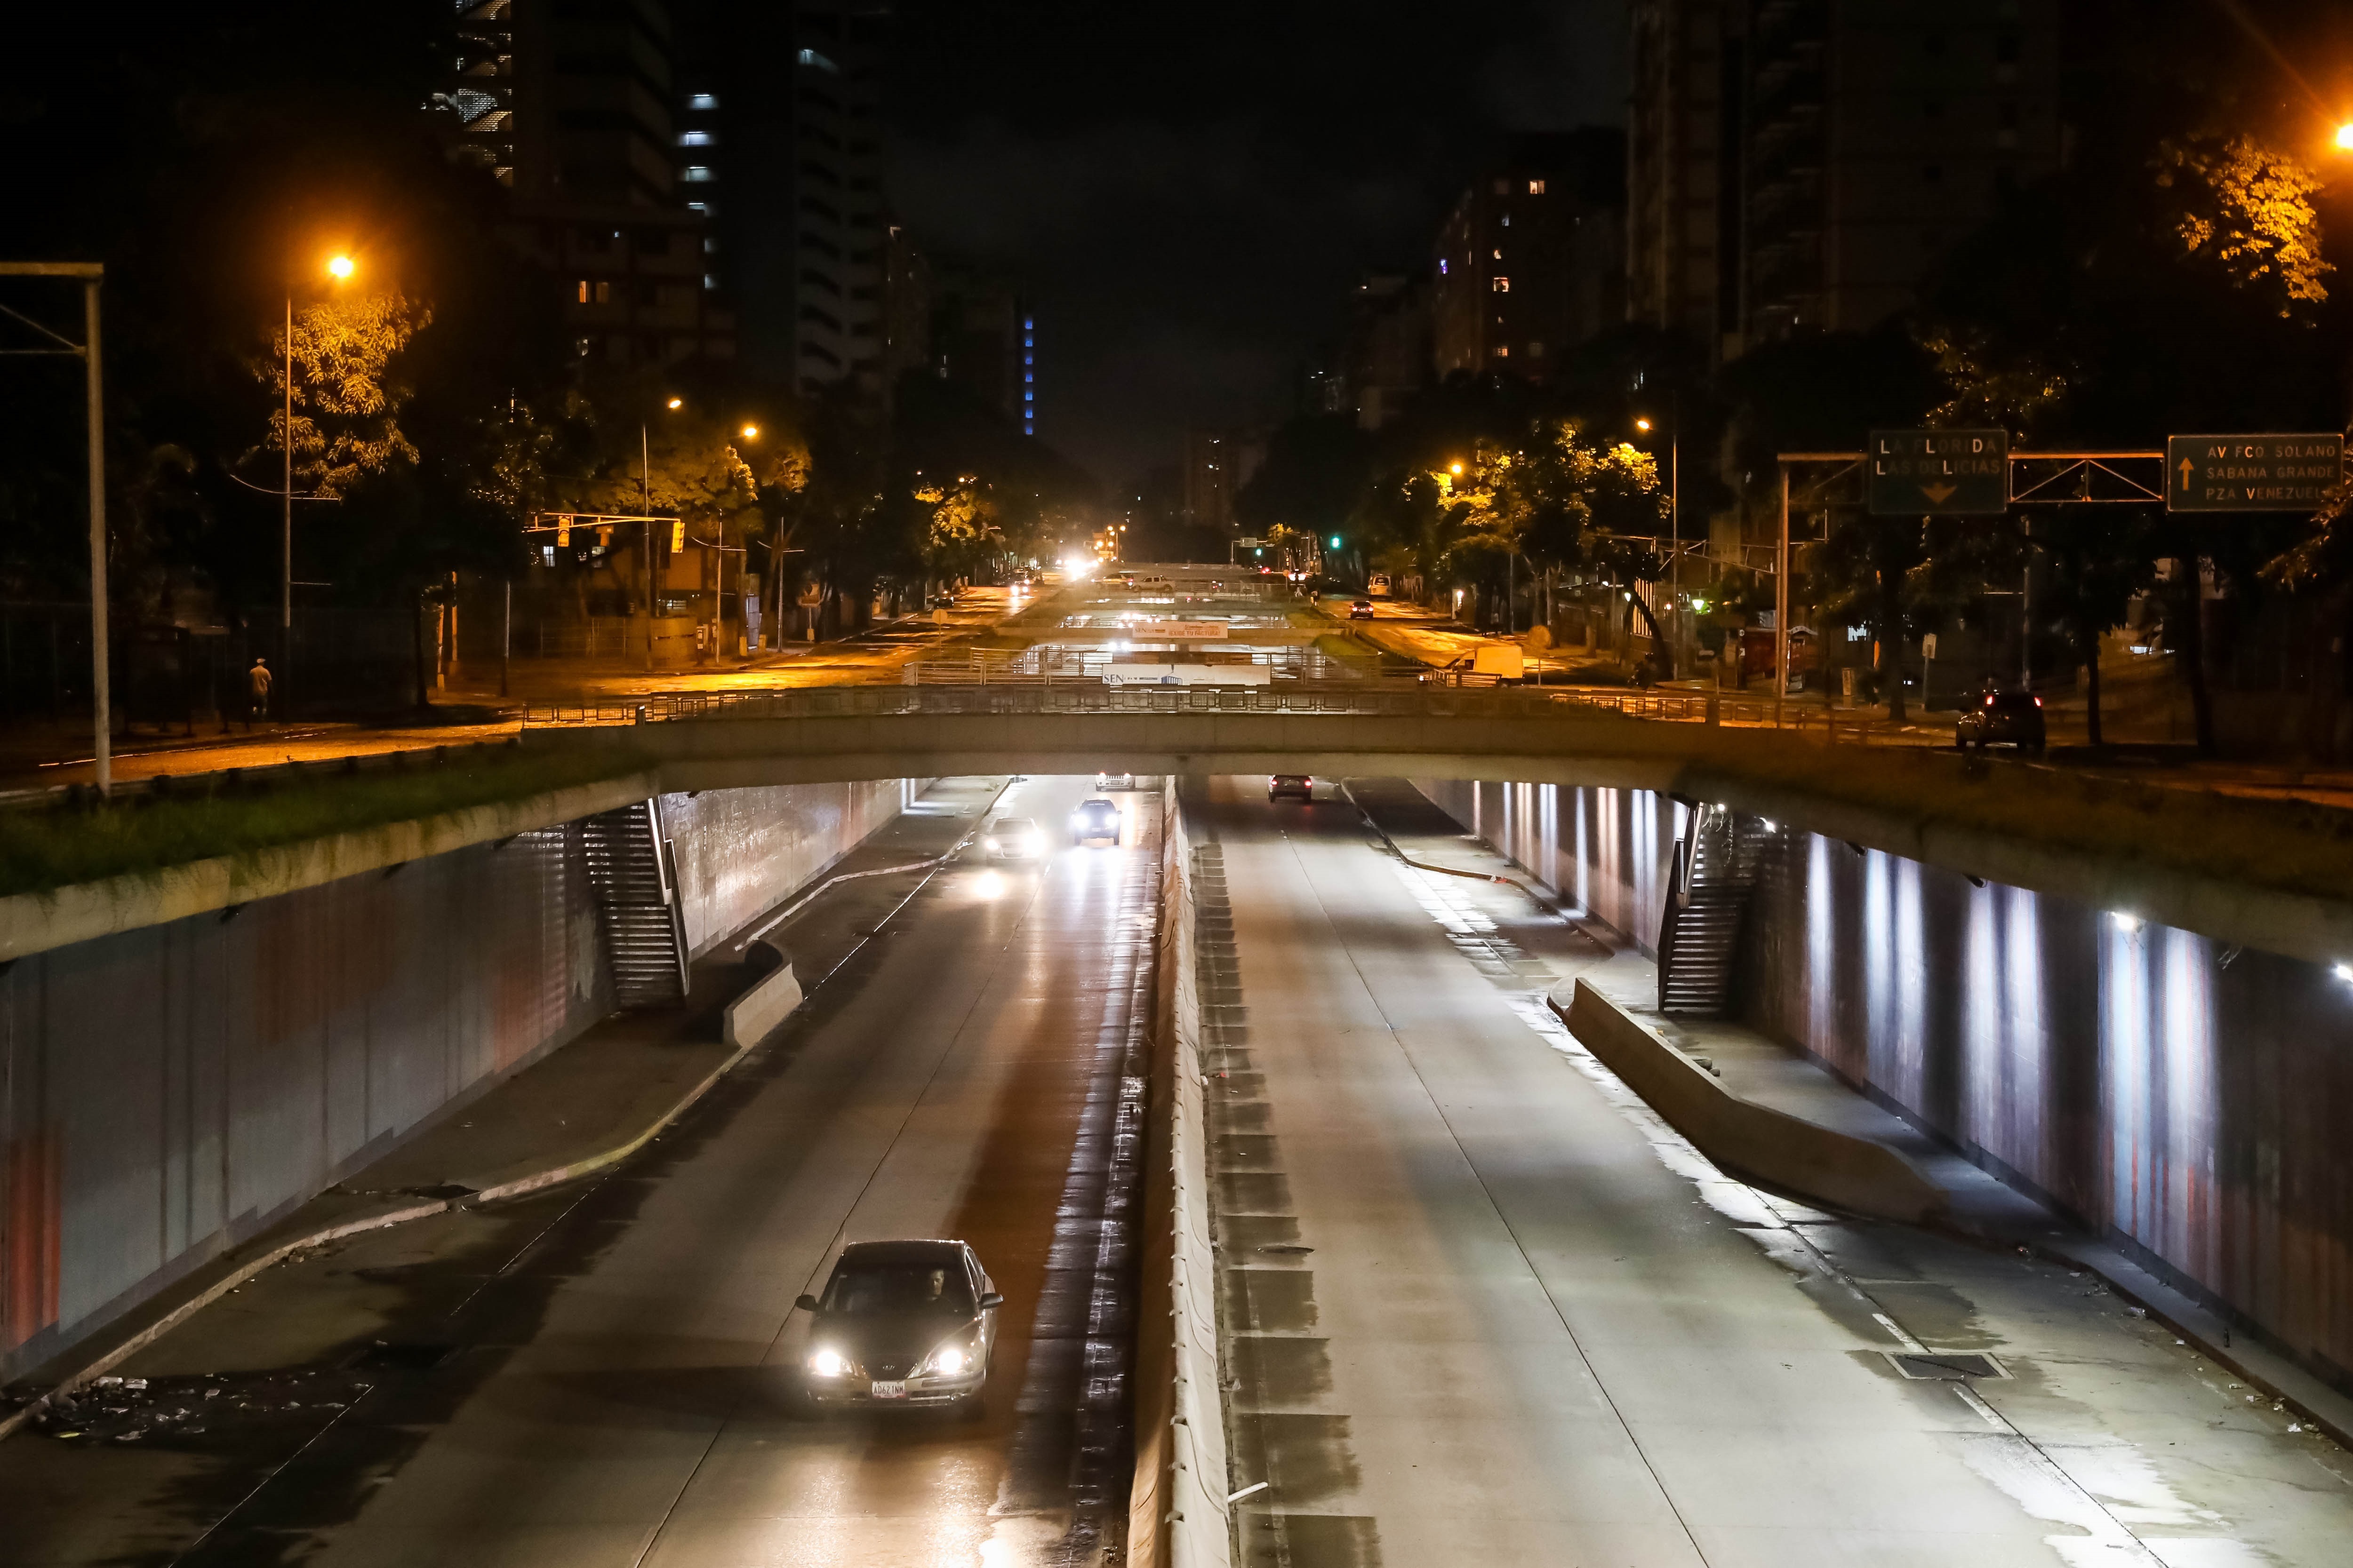
[[[1127,797],[1129,844],[1068,849],[1085,783],[1014,783],[1042,865],[967,858],[871,914],[614,1175],[362,1237],[266,1276],[273,1331],[200,1314],[125,1368],[231,1371],[205,1436],[7,1443],[0,1561],[1101,1561],[1132,1469],[1158,795]],[[1005,1293],[979,1420],[800,1403],[793,1298],[887,1237],[967,1239]]]

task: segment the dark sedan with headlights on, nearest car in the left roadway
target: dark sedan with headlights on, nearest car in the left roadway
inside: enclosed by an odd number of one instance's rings
[[[979,1413],[998,1349],[998,1295],[965,1241],[852,1241],[821,1295],[802,1387],[821,1406],[965,1406]]]

